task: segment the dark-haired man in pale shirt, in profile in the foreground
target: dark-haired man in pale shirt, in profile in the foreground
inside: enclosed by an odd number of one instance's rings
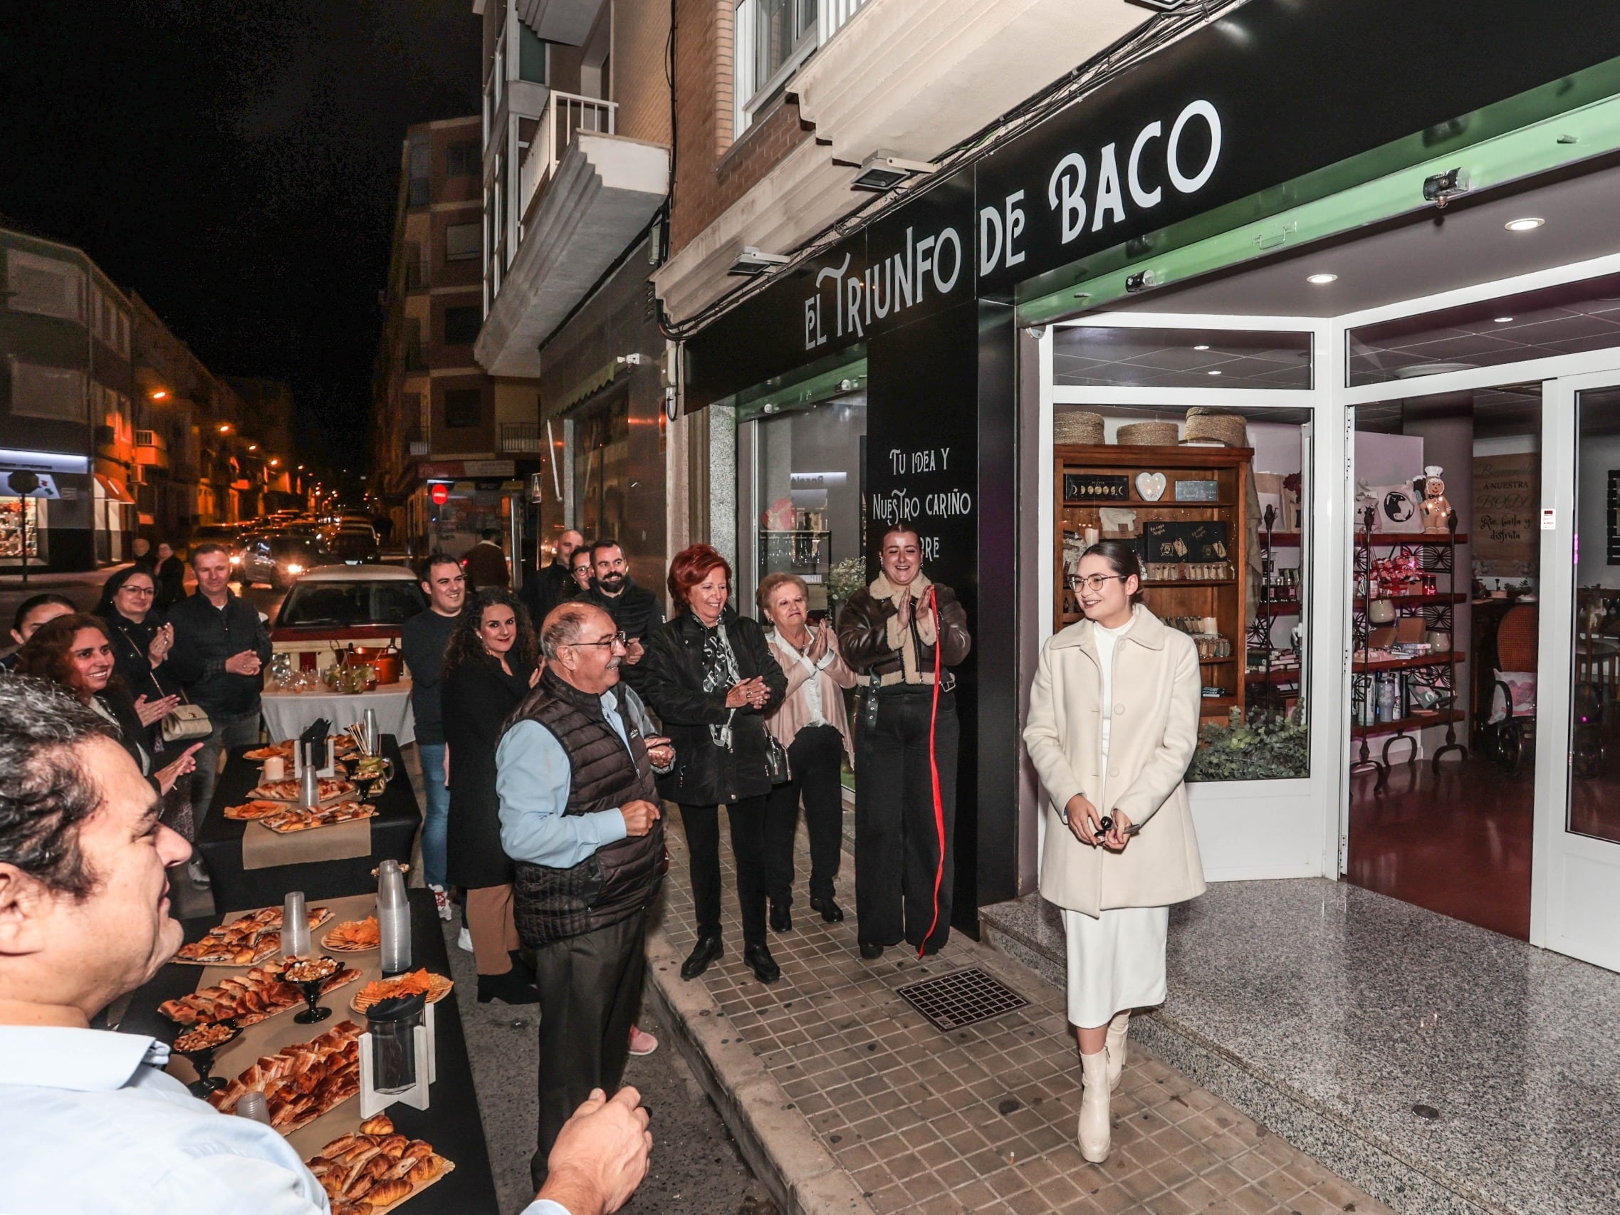
[[[190,846],[112,727],[34,679],[0,680],[0,1210],[324,1215],[275,1131],[162,1071],[154,1038],[89,1029],[180,948],[165,868]],[[646,1174],[640,1095],[590,1094],[525,1215],[606,1215]]]

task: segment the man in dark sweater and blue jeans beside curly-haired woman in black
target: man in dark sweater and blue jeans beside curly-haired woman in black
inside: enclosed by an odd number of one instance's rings
[[[444,847],[450,821],[450,791],[444,782],[444,721],[439,713],[439,676],[450,633],[467,603],[467,575],[449,552],[434,552],[421,570],[428,611],[400,625],[400,650],[410,669],[410,703],[416,718],[416,753],[428,810],[421,820],[421,868],[441,920],[450,919],[444,893]]]

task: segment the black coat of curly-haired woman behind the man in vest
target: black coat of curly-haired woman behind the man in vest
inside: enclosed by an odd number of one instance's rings
[[[439,685],[444,740],[450,745],[446,876],[455,886],[478,889],[512,881],[512,862],[501,847],[496,747],[512,710],[528,695],[531,671],[514,663],[509,676],[496,659],[476,654]]]

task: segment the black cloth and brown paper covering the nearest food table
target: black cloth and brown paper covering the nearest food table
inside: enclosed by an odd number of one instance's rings
[[[343,899],[340,902],[326,901],[334,919],[316,928],[311,936],[319,944],[321,936],[335,923],[348,919],[364,917],[374,909],[374,889],[363,899]],[[277,899],[280,902],[280,899]],[[321,899],[309,897],[309,906]],[[444,935],[439,930],[439,917],[433,906],[433,896],[426,889],[410,891],[411,910],[411,967],[426,967],[433,974],[449,975],[450,959],[446,956]],[[222,917],[204,917],[181,920],[186,941],[196,941]],[[360,967],[368,974],[360,982],[376,977],[377,953],[334,954],[345,966]],[[130,1001],[118,1030],[125,1034],[146,1034],[160,1042],[173,1043],[180,1027],[162,1016],[157,1008],[165,1000],[175,1000],[201,985],[204,969],[196,966],[180,966],[170,962],[162,967],[151,982],[146,983]],[[254,1025],[253,1030],[267,1029],[274,1034],[274,1048],[296,1042],[308,1042],[342,1021],[348,1019],[363,1025],[364,1017],[355,1013],[348,1003],[353,1000],[360,983],[337,988],[321,998],[321,1003],[332,1009],[332,1016],[316,1025],[300,1025],[293,1021],[293,1013],[280,1013],[269,1021]],[[301,1006],[300,1006],[301,1008]],[[462,1030],[462,1014],[455,1006],[455,993],[434,1004],[436,1029],[436,1077],[428,1094],[429,1106],[415,1110],[403,1103],[387,1106],[384,1113],[394,1119],[400,1134],[411,1139],[426,1139],[434,1152],[452,1160],[455,1170],[442,1179],[413,1194],[408,1200],[410,1215],[496,1215],[494,1178],[489,1171],[489,1150],[484,1145],[483,1121],[478,1115],[478,1094],[473,1089],[473,1069],[467,1058],[467,1037]],[[262,1035],[261,1035],[262,1037]],[[219,1051],[214,1074],[232,1079],[246,1069],[256,1058],[248,1047],[246,1037]],[[190,1081],[194,1072],[183,1059],[170,1063],[180,1079]],[[290,1140],[303,1158],[314,1155],[324,1144],[337,1136],[360,1126],[360,1098],[355,1097],[340,1103],[332,1111],[322,1115],[308,1128],[296,1131]]]

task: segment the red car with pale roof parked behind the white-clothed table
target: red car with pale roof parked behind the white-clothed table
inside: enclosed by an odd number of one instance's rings
[[[279,653],[318,654],[348,643],[397,646],[400,625],[426,608],[416,575],[400,565],[319,565],[287,591],[271,643]]]

